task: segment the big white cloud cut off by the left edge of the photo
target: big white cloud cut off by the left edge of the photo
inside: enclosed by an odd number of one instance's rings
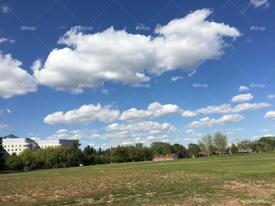
[[[38,81],[27,71],[19,68],[22,62],[13,59],[10,54],[0,54],[0,96],[10,98],[14,95],[35,92]]]

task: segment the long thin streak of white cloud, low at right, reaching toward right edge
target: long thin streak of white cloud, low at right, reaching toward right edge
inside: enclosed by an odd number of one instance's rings
[[[222,104],[220,106],[207,106],[206,108],[201,108],[201,109],[197,109],[196,111],[192,111],[192,110],[186,110],[184,112],[182,112],[182,116],[186,117],[186,118],[190,118],[190,117],[194,117],[197,116],[199,114],[211,114],[211,113],[236,113],[236,112],[245,112],[245,111],[250,111],[250,110],[257,110],[260,108],[265,108],[265,107],[269,107],[269,106],[273,106],[272,104],[268,104],[265,102],[262,103],[242,103],[242,104],[238,104],[235,107],[231,107],[231,104]]]

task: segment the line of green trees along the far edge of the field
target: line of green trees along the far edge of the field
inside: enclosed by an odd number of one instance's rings
[[[124,163],[137,161],[151,161],[155,155],[166,155],[175,153],[178,159],[199,157],[200,152],[209,155],[238,153],[239,149],[252,149],[256,152],[270,152],[275,147],[275,137],[262,137],[259,140],[251,141],[245,139],[228,146],[227,136],[216,132],[214,136],[206,134],[198,139],[198,144],[190,143],[188,147],[182,144],[170,144],[168,142],[152,142],[150,146],[143,143],[135,143],[130,146],[111,147],[106,150],[95,149],[86,146],[83,150],[79,147],[79,140],[73,140],[70,147],[49,147],[39,148],[36,151],[24,150],[19,155],[4,155],[2,138],[0,137],[0,171],[21,170],[24,166],[31,166],[32,169],[49,169],[53,165],[66,165],[76,167],[83,165],[97,165],[109,163]]]

